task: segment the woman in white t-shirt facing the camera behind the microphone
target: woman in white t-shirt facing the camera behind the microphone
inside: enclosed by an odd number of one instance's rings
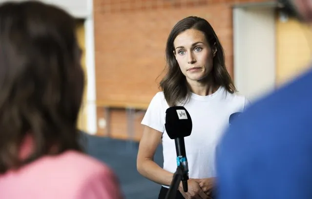
[[[162,186],[164,199],[176,171],[176,150],[165,129],[165,112],[184,106],[193,128],[185,138],[189,178],[188,192],[180,183],[176,199],[209,199],[215,180],[214,153],[219,137],[229,124],[229,115],[242,111],[247,100],[236,89],[225,66],[222,45],[207,20],[187,17],[171,30],[166,43],[167,72],[161,92],[150,102],[137,157],[138,171]],[[164,168],[153,162],[163,144]]]

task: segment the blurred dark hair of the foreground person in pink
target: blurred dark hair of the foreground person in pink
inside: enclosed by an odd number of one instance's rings
[[[84,74],[75,26],[53,5],[0,4],[0,173],[44,155],[81,150],[77,118]],[[28,135],[34,150],[21,160]]]

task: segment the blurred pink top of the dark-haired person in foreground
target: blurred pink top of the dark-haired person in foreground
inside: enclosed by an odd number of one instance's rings
[[[0,175],[0,199],[122,198],[112,170],[76,151],[45,156]]]

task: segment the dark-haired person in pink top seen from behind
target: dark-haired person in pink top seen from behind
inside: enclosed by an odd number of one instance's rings
[[[0,4],[1,199],[122,198],[111,169],[79,145],[81,53],[63,10]]]

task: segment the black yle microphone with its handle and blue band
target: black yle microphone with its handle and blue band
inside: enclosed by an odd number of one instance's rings
[[[184,137],[191,134],[192,120],[184,107],[170,107],[166,109],[165,128],[170,139],[174,139],[177,153],[177,166],[183,167],[182,184],[184,192],[187,192],[188,165],[185,152]]]

